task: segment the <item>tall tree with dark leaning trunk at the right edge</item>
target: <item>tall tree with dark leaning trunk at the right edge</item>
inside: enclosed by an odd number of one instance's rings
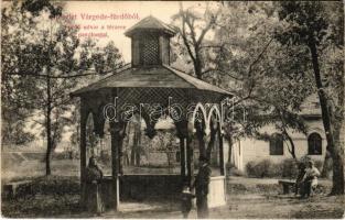
[[[309,59],[304,59],[304,62],[312,65],[327,150],[333,160],[331,195],[344,194],[344,150],[342,150],[339,142],[339,132],[344,123],[344,72],[337,69],[336,79],[338,80],[334,80],[335,76],[322,73],[322,67],[327,62],[322,53],[330,47],[344,47],[342,9],[342,2],[280,2],[279,19],[284,22],[285,26],[276,34],[276,38],[281,44],[305,47],[310,52]],[[334,12],[336,12],[335,15]],[[338,63],[328,64],[328,66],[335,66],[334,68],[337,68],[338,65]],[[328,94],[330,84],[324,80],[336,84],[337,89],[331,89],[335,94]],[[336,98],[331,98],[332,95]],[[334,120],[333,117],[337,120]]]

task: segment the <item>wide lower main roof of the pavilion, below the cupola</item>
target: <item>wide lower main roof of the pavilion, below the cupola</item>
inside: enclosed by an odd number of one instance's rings
[[[72,96],[79,96],[84,92],[96,91],[101,88],[185,88],[231,95],[225,89],[207,84],[170,66],[162,65],[151,66],[150,68],[127,68],[80,88],[72,92]]]

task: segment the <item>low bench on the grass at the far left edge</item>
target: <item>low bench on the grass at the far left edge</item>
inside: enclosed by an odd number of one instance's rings
[[[32,194],[32,180],[11,182],[2,186],[2,198],[13,199],[22,195]]]

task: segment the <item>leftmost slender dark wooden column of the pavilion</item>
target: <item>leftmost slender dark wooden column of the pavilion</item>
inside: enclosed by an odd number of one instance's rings
[[[86,199],[86,120],[87,120],[87,112],[83,108],[83,101],[80,107],[80,204],[82,206],[85,205]]]

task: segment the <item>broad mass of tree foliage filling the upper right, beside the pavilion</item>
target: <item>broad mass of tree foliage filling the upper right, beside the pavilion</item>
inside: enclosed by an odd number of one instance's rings
[[[214,10],[217,14],[208,15],[217,18],[212,20],[214,37],[203,38],[200,45],[207,44],[207,48],[212,48],[201,53],[201,63],[212,67],[202,78],[234,92],[238,98],[233,103],[235,112],[246,110],[245,118],[244,113],[238,114],[226,125],[226,136],[230,143],[234,143],[231,138],[262,136],[260,129],[274,124],[295,157],[290,132],[306,134],[301,106],[317,92],[327,148],[336,163],[332,191],[343,194],[343,150],[339,145],[344,123],[343,3],[222,2],[220,8]],[[185,20],[180,24],[184,40],[180,55],[192,54],[190,59],[193,61],[195,53],[190,53],[188,46],[193,48],[193,36],[202,33],[197,29],[205,30],[205,25],[190,25],[196,18],[191,11],[181,11],[176,16]],[[184,31],[184,25],[194,32]],[[195,63],[192,64],[196,72]],[[202,68],[205,69],[205,65]]]

